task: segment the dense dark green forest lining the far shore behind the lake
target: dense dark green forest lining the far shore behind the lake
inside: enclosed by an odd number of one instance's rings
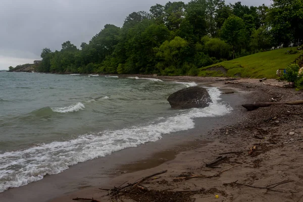
[[[39,72],[196,75],[197,69],[303,38],[303,0],[271,6],[192,0],[129,14],[77,48],[44,48]]]

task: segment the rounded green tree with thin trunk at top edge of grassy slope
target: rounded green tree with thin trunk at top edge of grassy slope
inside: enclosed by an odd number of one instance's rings
[[[222,26],[221,37],[232,46],[233,59],[235,50],[240,49],[245,40],[244,21],[236,16],[229,17]]]

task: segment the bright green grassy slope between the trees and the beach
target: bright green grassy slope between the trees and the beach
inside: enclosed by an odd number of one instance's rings
[[[290,48],[281,48],[274,51],[262,52],[225,61],[208,67],[199,69],[199,76],[228,76],[228,77],[249,77],[249,78],[276,78],[278,69],[286,68],[302,53],[288,55],[285,54]],[[208,70],[211,67],[222,66],[227,72],[220,70]]]

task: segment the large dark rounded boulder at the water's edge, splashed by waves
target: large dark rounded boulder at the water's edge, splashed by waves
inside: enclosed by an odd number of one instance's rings
[[[167,100],[174,109],[205,108],[212,103],[208,91],[198,86],[174,92]]]

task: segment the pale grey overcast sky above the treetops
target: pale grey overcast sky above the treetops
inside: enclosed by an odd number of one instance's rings
[[[81,42],[89,42],[105,24],[122,26],[130,13],[149,11],[151,6],[165,5],[168,1],[0,0],[0,70],[40,60],[42,48],[60,51],[67,40],[80,47]],[[271,3],[270,0],[241,2],[248,6]]]

